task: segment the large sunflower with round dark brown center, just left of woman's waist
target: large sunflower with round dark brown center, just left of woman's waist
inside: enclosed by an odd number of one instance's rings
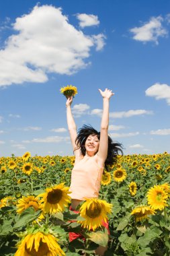
[[[45,193],[38,195],[42,197],[40,202],[42,203],[42,210],[46,213],[63,212],[64,208],[71,202],[71,197],[68,195],[71,193],[69,187],[64,187],[65,183],[60,183],[54,187],[47,188]]]

